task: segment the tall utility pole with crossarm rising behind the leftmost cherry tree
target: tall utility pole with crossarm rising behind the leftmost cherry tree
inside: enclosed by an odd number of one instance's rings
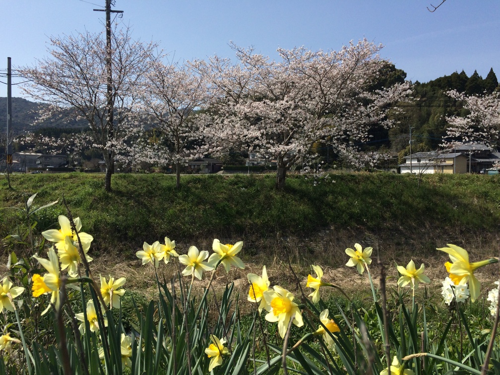
[[[107,71],[107,88],[106,88],[106,113],[107,113],[107,141],[110,142],[114,136],[113,128],[113,76],[112,76],[112,66],[111,66],[111,13],[123,13],[123,10],[111,10],[111,1],[106,0],[105,9],[93,9],[94,11],[105,11],[106,12],[106,71]],[[107,150],[107,157],[109,160],[109,173],[114,172],[114,161],[113,161],[113,151],[112,149]],[[107,175],[107,173],[106,173]]]

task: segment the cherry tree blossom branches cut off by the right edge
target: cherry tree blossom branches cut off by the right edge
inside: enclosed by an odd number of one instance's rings
[[[467,96],[457,91],[447,94],[463,102],[463,108],[469,113],[463,117],[446,117],[449,127],[443,143],[481,142],[500,149],[500,92],[484,96]]]

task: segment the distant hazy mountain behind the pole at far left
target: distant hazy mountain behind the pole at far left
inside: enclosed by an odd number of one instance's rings
[[[33,131],[43,127],[57,128],[81,128],[85,127],[85,121],[65,121],[63,118],[46,120],[37,125],[32,125],[38,115],[40,103],[26,100],[22,97],[12,97],[12,132],[18,135],[24,131]],[[5,131],[7,118],[7,98],[0,97],[0,129]]]

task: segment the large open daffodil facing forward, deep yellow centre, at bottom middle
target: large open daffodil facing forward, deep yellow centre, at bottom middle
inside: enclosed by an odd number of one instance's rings
[[[274,285],[274,290],[264,291],[263,297],[266,302],[265,309],[268,313],[265,315],[265,320],[270,322],[278,322],[278,331],[281,338],[284,337],[288,322],[293,315],[293,324],[297,327],[303,325],[302,313],[298,305],[293,302],[293,294],[288,290]]]

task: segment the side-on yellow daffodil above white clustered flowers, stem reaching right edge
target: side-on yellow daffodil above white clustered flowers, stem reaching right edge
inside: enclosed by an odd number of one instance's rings
[[[453,282],[457,280],[459,284],[464,284],[468,282],[469,292],[470,292],[470,300],[473,302],[479,296],[480,282],[474,276],[474,271],[482,267],[486,264],[495,263],[498,259],[491,258],[481,261],[476,261],[473,263],[469,262],[468,253],[465,249],[448,243],[448,247],[441,247],[438,250],[444,251],[449,255],[449,259],[452,264],[449,267],[450,278],[453,276],[461,276],[460,279],[457,277],[451,278]]]

